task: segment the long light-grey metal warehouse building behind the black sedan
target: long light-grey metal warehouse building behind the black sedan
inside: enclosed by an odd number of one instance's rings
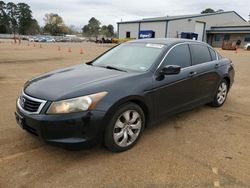
[[[230,29],[231,26],[233,29]],[[222,32],[220,27],[222,30],[227,29]],[[234,39],[236,34],[238,39],[234,40],[241,40],[242,45],[250,42],[248,41],[250,40],[250,23],[235,11],[118,22],[117,28],[118,38],[196,38],[218,46],[223,40],[230,40],[230,37]],[[228,30],[230,30],[229,33]]]

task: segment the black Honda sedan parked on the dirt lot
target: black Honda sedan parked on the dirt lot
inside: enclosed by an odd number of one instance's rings
[[[233,81],[232,62],[206,43],[135,40],[26,82],[15,116],[48,143],[84,147],[102,140],[125,151],[144,128],[168,116],[222,106]]]

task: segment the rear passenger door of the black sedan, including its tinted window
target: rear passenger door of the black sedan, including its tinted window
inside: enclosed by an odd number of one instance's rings
[[[207,45],[190,44],[193,70],[193,83],[196,85],[194,92],[196,102],[208,102],[213,96],[214,88],[220,80],[216,53]]]

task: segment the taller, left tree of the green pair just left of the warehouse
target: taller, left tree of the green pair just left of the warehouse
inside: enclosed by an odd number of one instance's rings
[[[88,25],[85,25],[82,28],[82,31],[84,34],[87,34],[89,37],[94,36],[97,40],[98,35],[100,34],[100,29],[101,29],[100,25],[101,25],[101,22],[97,20],[96,18],[92,17],[89,20]]]

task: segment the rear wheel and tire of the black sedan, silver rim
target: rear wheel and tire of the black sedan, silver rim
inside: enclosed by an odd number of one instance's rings
[[[223,79],[216,90],[216,94],[213,98],[211,106],[221,107],[226,102],[227,94],[228,94],[228,83],[225,79]]]

